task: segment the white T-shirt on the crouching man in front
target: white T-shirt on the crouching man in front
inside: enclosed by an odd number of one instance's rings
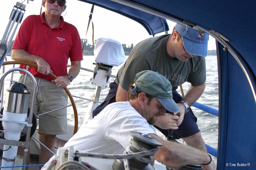
[[[87,122],[65,144],[74,146],[74,150],[104,154],[122,154],[130,145],[130,131],[143,134],[156,134],[130,104],[116,102],[106,106],[96,117]]]

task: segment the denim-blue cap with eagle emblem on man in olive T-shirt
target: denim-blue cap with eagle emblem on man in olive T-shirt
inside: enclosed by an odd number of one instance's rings
[[[192,55],[207,56],[209,34],[198,31],[194,28],[176,24],[176,31],[182,36],[185,50]]]

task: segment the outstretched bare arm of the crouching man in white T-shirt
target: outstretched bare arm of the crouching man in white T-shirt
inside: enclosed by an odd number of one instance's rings
[[[178,167],[188,164],[208,164],[211,160],[209,155],[203,151],[180,143],[164,141],[155,134],[149,135],[163,144],[158,147],[159,150],[156,152],[154,158],[166,166]],[[207,167],[205,166],[205,168],[216,170],[216,165],[212,161]]]

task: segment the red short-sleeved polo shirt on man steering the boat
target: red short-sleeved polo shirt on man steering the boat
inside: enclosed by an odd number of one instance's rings
[[[57,76],[67,75],[68,58],[70,61],[83,60],[81,39],[75,26],[64,22],[51,28],[42,15],[28,16],[20,26],[12,49],[23,49],[29,54],[44,58]],[[26,69],[26,66],[20,65]],[[36,68],[29,71],[37,78],[53,80],[50,75],[41,74]]]

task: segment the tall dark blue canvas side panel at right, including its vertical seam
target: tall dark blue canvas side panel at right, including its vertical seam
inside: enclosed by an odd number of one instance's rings
[[[244,72],[229,52],[220,59],[221,113],[219,169],[241,169],[238,164],[250,163],[245,169],[256,167],[256,104]],[[224,55],[222,55],[224,56]],[[222,69],[223,68],[223,69]],[[228,166],[226,164],[228,163]],[[236,166],[230,166],[231,164]]]

